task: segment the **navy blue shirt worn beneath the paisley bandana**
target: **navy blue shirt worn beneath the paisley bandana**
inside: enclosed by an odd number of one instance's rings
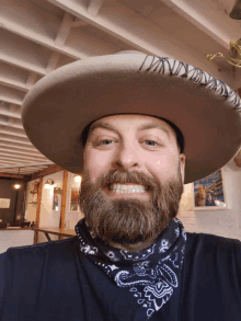
[[[241,242],[186,237],[179,297],[148,320],[241,320]],[[74,237],[0,254],[0,321],[28,320],[144,321],[147,316],[129,290],[80,251]]]

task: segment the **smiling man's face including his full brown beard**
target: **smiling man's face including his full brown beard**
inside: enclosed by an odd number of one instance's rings
[[[184,170],[185,156],[164,121],[130,114],[96,121],[80,193],[87,225],[108,244],[147,244],[176,216]]]

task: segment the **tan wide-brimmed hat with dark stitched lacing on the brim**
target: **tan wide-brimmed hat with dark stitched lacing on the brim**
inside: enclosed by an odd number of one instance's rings
[[[238,94],[184,62],[139,51],[91,57],[39,80],[22,105],[32,144],[49,160],[81,174],[84,127],[114,114],[172,122],[184,136],[185,184],[222,168],[241,146]]]

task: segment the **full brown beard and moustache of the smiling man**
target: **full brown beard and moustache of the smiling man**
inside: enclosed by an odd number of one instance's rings
[[[108,197],[111,184],[144,185],[149,199]],[[180,163],[177,174],[167,183],[141,172],[111,170],[92,183],[88,172],[82,175],[79,203],[93,238],[105,244],[135,245],[148,243],[176,217],[183,193]]]

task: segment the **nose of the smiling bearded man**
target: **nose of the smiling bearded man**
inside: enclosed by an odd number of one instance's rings
[[[140,168],[141,161],[138,156],[138,150],[134,146],[123,146],[116,152],[113,168],[118,170],[129,171]]]

